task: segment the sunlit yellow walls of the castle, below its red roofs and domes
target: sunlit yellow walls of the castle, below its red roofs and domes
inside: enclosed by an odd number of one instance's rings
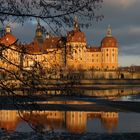
[[[67,51],[67,68],[73,70],[116,70],[118,68],[118,48],[102,48],[101,51],[91,52],[85,44],[76,43]],[[69,47],[69,46],[67,46]],[[34,62],[39,62],[44,68],[56,68],[64,66],[64,57],[62,49],[48,49],[47,54],[24,55],[23,66],[31,67]],[[20,64],[20,53],[13,50],[4,52],[6,58],[12,63]],[[7,62],[0,62],[3,67],[16,69],[15,66],[9,65]]]

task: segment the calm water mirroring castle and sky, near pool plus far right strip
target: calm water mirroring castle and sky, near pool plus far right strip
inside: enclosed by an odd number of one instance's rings
[[[130,95],[120,97],[120,93],[130,92]],[[110,93],[115,100],[140,101],[139,89],[108,89],[86,90],[86,95],[107,95]],[[74,102],[75,103],[75,102]],[[71,101],[71,104],[73,102]],[[78,103],[82,104],[82,102]],[[20,114],[20,115],[19,115]],[[26,121],[24,121],[26,120]],[[7,131],[29,132],[33,131],[30,125],[43,126],[45,130],[54,130],[71,133],[140,133],[140,113],[133,112],[92,112],[92,111],[17,111],[0,110],[0,128]]]

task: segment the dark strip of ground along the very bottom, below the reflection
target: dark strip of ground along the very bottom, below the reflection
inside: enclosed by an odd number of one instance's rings
[[[0,133],[0,140],[140,140],[140,133]]]

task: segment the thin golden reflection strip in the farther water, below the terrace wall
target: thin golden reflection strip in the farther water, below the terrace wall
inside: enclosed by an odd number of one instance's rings
[[[102,85],[102,88],[104,87]],[[119,89],[117,89],[119,88]],[[110,89],[80,89],[80,88],[71,88],[63,90],[48,90],[46,94],[48,95],[59,95],[59,94],[66,94],[66,95],[88,95],[88,96],[98,96],[98,97],[118,97],[118,96],[125,96],[125,95],[132,95],[137,94],[140,92],[139,88],[126,88],[126,87],[111,87]]]

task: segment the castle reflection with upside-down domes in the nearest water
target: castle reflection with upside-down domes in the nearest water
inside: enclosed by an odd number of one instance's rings
[[[80,111],[23,111],[22,117],[33,126],[45,125],[47,130],[66,129],[71,133],[83,133],[88,119],[98,118],[103,127],[111,133],[118,124],[117,112],[80,112]],[[0,111],[0,127],[15,130],[21,121],[18,111]]]

